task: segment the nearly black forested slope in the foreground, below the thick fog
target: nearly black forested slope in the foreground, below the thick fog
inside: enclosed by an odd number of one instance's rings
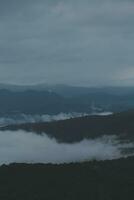
[[[0,167],[1,200],[132,200],[134,158]]]

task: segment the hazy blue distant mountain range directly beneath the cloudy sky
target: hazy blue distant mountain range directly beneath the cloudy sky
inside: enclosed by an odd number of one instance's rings
[[[3,88],[3,89],[2,89]],[[5,89],[4,89],[5,88]],[[134,108],[133,88],[0,85],[0,116],[120,112]]]

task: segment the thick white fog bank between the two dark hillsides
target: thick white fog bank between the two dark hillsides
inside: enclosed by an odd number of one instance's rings
[[[104,136],[95,140],[64,144],[47,135],[36,135],[24,131],[0,132],[0,164],[69,163],[85,160],[105,160],[123,157],[122,149],[133,144],[119,144],[115,136]]]

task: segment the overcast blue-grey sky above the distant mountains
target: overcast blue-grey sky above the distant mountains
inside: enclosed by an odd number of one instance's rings
[[[134,1],[0,0],[0,82],[134,85]]]

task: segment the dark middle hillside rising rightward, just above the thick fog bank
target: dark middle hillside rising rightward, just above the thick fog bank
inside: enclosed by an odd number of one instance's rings
[[[1,130],[26,130],[38,134],[47,133],[60,142],[76,142],[84,138],[117,135],[121,139],[134,140],[134,111],[110,116],[87,116],[50,123],[10,125]]]

